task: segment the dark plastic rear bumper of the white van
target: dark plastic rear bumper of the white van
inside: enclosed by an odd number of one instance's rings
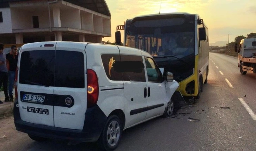
[[[14,124],[16,126],[16,130],[44,138],[74,140],[78,142],[97,141],[106,122],[106,115],[97,105],[87,109],[85,113],[85,124],[83,130],[51,127],[25,122],[21,120],[19,107],[16,106],[17,101],[14,102],[13,107]]]

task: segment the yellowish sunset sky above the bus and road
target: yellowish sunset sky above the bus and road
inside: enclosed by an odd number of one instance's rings
[[[187,12],[199,14],[209,29],[209,43],[234,42],[237,36],[256,33],[255,0],[105,0],[111,13],[111,37],[115,42],[117,25],[140,15]],[[123,32],[121,31],[123,42]]]

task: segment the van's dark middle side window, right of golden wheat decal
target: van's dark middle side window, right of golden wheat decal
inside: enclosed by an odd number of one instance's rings
[[[123,73],[123,81],[146,82],[142,56],[120,55],[121,65],[117,67]]]

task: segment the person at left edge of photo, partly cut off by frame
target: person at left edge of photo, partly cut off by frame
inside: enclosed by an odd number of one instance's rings
[[[0,43],[0,88],[3,84],[4,93],[5,93],[5,102],[10,101],[8,92],[7,92],[7,83],[8,83],[8,73],[6,67],[6,58],[4,54],[4,44]],[[0,103],[3,103],[0,100]]]

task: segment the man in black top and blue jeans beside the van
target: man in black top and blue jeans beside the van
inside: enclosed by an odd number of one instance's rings
[[[8,80],[9,80],[8,93],[9,93],[10,101],[13,101],[12,90],[13,90],[15,72],[16,72],[17,63],[18,63],[17,51],[18,51],[17,46],[12,45],[10,53],[6,54],[6,67],[8,70]]]

